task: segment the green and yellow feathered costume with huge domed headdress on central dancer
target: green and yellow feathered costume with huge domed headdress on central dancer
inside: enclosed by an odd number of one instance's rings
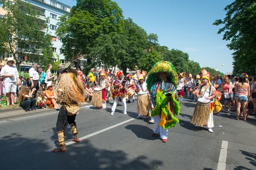
[[[158,76],[159,73],[166,73],[166,79],[160,79]],[[180,111],[179,103],[175,99],[175,96],[177,96],[175,89],[177,87],[177,80],[176,69],[172,63],[168,61],[155,63],[148,73],[147,88],[150,92],[151,102],[154,105],[151,116],[160,116],[160,122],[157,122],[154,118],[155,124],[157,123],[155,126],[168,129],[179,122],[179,120],[175,118],[175,116],[179,115]],[[156,128],[157,127],[155,127],[155,130]],[[167,133],[166,136],[162,137],[161,135],[161,138],[167,139]]]

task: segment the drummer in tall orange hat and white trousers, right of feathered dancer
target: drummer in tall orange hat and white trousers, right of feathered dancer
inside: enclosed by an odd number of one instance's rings
[[[215,87],[213,85],[211,85],[209,78],[210,78],[210,74],[206,70],[203,69],[201,81],[199,82],[199,86],[198,86],[197,90],[195,90],[194,94],[198,98],[204,98],[204,99],[210,100],[210,102],[211,102],[211,110],[209,111],[210,115],[209,115],[208,124],[205,125],[204,127],[207,127],[208,131],[212,133],[213,132],[212,127],[214,127],[213,113],[212,113],[212,102],[215,97],[220,96],[220,92],[216,91]],[[201,85],[201,83],[203,83],[203,85]],[[198,127],[198,125],[195,125],[195,127]]]

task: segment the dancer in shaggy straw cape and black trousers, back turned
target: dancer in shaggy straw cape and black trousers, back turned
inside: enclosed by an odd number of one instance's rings
[[[78,139],[78,130],[76,129],[76,114],[79,111],[79,106],[84,102],[84,86],[79,78],[79,74],[76,69],[71,68],[75,65],[76,68],[80,67],[79,60],[84,57],[80,53],[70,59],[66,65],[61,67],[61,74],[58,78],[58,85],[55,90],[58,95],[58,102],[62,105],[58,113],[58,119],[56,123],[59,147],[52,150],[52,152],[64,152],[65,139],[64,130],[67,124],[70,124],[71,132],[74,134],[74,138],[70,141],[80,142]]]

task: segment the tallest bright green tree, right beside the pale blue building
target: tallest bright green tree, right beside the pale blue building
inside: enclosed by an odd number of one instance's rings
[[[94,41],[111,32],[122,32],[124,17],[122,9],[111,0],[77,0],[71,13],[60,17],[57,25],[56,34],[63,42],[65,58],[82,51],[87,55],[87,67],[93,67],[91,62],[95,61],[89,54],[95,47]]]

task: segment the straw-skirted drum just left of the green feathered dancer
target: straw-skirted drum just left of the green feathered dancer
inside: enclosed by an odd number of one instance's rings
[[[148,92],[138,93],[138,113],[141,116],[149,116],[149,112],[152,110],[151,101],[149,99]]]

